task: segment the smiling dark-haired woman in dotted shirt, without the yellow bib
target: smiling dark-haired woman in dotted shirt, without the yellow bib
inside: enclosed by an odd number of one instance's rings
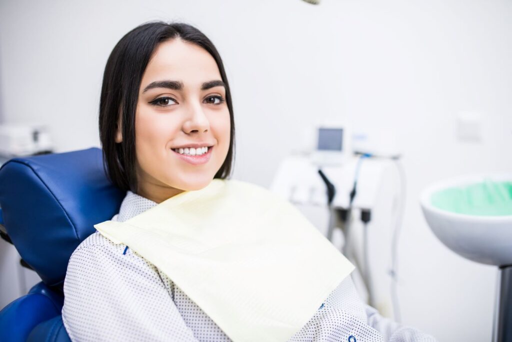
[[[186,24],[141,25],[106,64],[100,139],[123,222],[231,171],[234,121],[222,60]],[[71,256],[62,317],[72,340],[222,341],[227,335],[171,279],[98,232]],[[362,303],[347,277],[291,341],[435,341]]]

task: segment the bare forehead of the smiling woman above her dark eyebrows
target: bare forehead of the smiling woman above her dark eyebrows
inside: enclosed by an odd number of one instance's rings
[[[221,75],[214,57],[205,49],[176,38],[157,46],[142,76],[141,87],[167,79],[182,81],[187,87],[221,79]]]

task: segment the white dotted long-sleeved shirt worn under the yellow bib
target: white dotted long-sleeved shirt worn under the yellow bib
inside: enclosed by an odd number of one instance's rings
[[[112,220],[123,222],[156,205],[129,191]],[[230,341],[164,273],[98,232],[73,252],[64,294],[62,320],[72,341]],[[348,276],[289,341],[436,340],[380,316],[361,301]]]

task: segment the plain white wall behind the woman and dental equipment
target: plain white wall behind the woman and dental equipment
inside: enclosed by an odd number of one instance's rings
[[[152,19],[197,26],[223,56],[239,179],[269,186],[318,117],[391,129],[408,175],[403,323],[440,341],[490,340],[497,272],[441,245],[418,196],[440,178],[512,169],[511,2],[3,0],[4,120],[49,125],[58,151],[99,146],[106,58],[124,33]],[[482,115],[481,143],[456,139],[456,116],[468,110]]]

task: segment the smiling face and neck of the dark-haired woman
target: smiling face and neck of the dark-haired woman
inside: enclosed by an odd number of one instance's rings
[[[157,47],[135,116],[138,194],[160,203],[211,182],[229,149],[223,84],[203,48],[179,38]]]

